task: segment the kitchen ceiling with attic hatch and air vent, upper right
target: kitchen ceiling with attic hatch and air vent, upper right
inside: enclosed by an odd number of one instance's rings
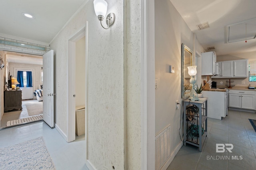
[[[170,0],[206,51],[217,55],[256,51],[256,0]],[[210,28],[197,25],[208,22]],[[239,24],[237,24],[239,23]],[[247,29],[245,28],[245,25]],[[230,27],[230,33],[228,32]],[[245,39],[247,35],[247,43]],[[237,42],[228,42],[230,40]]]

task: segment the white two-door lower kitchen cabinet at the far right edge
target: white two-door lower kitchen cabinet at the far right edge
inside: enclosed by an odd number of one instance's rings
[[[230,90],[229,108],[256,110],[255,108],[255,91]]]

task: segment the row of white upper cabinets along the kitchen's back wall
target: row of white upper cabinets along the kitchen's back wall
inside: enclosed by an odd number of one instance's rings
[[[216,62],[216,70],[212,78],[248,77],[248,59]]]

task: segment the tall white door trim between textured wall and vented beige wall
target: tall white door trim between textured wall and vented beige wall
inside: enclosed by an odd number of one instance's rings
[[[154,1],[142,0],[141,164],[155,169],[155,11]]]

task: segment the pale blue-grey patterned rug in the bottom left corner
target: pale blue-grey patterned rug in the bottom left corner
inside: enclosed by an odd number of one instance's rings
[[[42,137],[0,148],[0,169],[55,170]]]

